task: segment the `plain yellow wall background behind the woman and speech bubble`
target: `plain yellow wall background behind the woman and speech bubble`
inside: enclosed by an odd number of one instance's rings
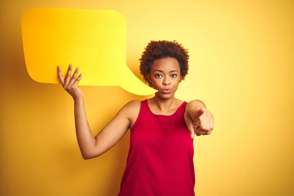
[[[294,195],[294,1],[0,1],[0,195],[115,196],[129,132],[102,156],[83,160],[73,100],[25,68],[21,19],[33,7],[116,10],[127,25],[126,64],[151,39],[189,49],[177,98],[203,100],[215,116],[195,139],[197,196]],[[121,87],[82,86],[93,133],[135,96]]]

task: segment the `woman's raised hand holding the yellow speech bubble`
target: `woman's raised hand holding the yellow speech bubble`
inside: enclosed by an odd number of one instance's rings
[[[57,66],[57,69],[58,69],[59,80],[62,84],[62,87],[73,97],[74,100],[76,100],[77,98],[82,98],[83,93],[77,87],[77,84],[82,78],[83,73],[80,73],[79,76],[76,78],[79,68],[78,67],[76,68],[75,72],[73,73],[73,77],[71,77],[73,65],[70,64],[65,78],[62,76],[60,66]]]

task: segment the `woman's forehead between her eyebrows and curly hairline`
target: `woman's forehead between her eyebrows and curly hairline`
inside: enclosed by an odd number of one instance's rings
[[[178,70],[180,71],[180,64],[175,58],[167,57],[156,59],[150,68],[151,70],[162,70],[162,71],[169,71],[169,70]]]

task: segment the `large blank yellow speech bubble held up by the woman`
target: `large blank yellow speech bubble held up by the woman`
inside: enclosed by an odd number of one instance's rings
[[[41,83],[60,84],[57,65],[80,68],[79,85],[121,86],[136,95],[156,92],[126,65],[126,23],[111,10],[33,8],[22,19],[25,65]]]

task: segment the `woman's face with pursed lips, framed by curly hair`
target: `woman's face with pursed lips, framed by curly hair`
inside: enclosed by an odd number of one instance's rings
[[[152,87],[158,90],[156,96],[171,98],[178,88],[180,73],[180,65],[175,58],[162,58],[153,62],[147,78]]]

